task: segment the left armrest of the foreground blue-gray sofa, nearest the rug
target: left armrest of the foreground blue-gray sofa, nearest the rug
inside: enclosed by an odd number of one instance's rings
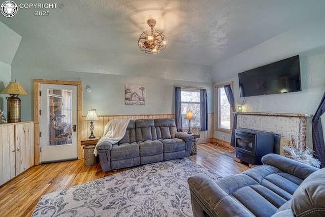
[[[196,175],[189,177],[189,190],[191,192],[192,204],[197,203],[209,216],[254,216],[242,204],[226,194],[207,175]],[[204,216],[193,210],[194,216]]]

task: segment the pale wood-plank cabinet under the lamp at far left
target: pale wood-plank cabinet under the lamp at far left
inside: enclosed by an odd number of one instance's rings
[[[34,166],[34,122],[0,125],[0,185]]]

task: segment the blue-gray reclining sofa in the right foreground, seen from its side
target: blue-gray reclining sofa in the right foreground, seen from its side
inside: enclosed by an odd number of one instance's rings
[[[325,168],[267,154],[264,165],[188,179],[194,216],[325,216]]]

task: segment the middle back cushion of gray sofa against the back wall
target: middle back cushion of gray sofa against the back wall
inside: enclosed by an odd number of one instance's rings
[[[153,119],[137,119],[135,125],[137,142],[157,139]]]

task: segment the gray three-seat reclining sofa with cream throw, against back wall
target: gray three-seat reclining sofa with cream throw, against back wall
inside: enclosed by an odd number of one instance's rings
[[[178,133],[173,119],[130,120],[116,144],[97,145],[103,171],[189,157],[193,136]]]

